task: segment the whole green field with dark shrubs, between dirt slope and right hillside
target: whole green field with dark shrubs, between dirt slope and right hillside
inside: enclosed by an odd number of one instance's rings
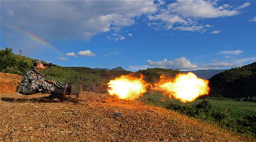
[[[161,92],[147,92],[137,100],[149,105],[172,109],[197,119],[213,121],[235,132],[256,137],[256,102],[243,102],[240,99],[223,97],[204,97],[183,103],[174,98],[169,99]]]

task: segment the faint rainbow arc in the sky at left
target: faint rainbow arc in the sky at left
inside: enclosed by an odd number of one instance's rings
[[[43,45],[46,45],[47,47],[49,47],[50,49],[54,50],[55,52],[59,53],[60,55],[65,56],[60,50],[58,50],[57,48],[55,48],[53,45],[50,45],[49,43],[47,43],[46,41],[42,40],[41,38],[38,38],[36,35],[32,35],[31,33],[28,33],[26,31],[21,30],[20,28],[14,27],[14,26],[9,26],[9,25],[4,25],[7,28],[11,28],[14,31],[18,31],[20,33],[23,33],[24,35],[27,35],[29,38],[36,40],[38,43],[41,43]]]

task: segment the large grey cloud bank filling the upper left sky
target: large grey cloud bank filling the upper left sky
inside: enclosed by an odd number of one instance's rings
[[[60,38],[88,41],[97,33],[131,26],[134,18],[158,11],[160,4],[154,4],[153,0],[1,1],[1,25],[16,26],[46,41]],[[9,33],[11,29],[5,31],[4,40],[14,38]]]

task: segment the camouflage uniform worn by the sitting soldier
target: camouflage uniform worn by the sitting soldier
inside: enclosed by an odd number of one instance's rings
[[[20,88],[18,90],[18,88]],[[17,87],[17,92],[21,94],[35,94],[38,92],[55,92],[56,87],[46,82],[35,70],[28,70],[23,76],[21,83]]]

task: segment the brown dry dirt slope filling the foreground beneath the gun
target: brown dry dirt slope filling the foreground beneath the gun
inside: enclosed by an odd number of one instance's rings
[[[0,141],[250,141],[206,121],[109,94],[82,92],[80,104],[12,102],[49,94],[0,89]]]

